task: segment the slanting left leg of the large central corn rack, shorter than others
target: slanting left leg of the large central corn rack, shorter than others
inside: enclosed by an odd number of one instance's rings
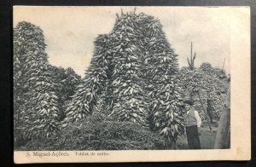
[[[107,86],[106,81],[110,75],[108,72],[109,57],[111,57],[110,49],[108,35],[100,35],[96,38],[95,52],[90,61],[90,67],[67,104],[65,113],[67,118],[63,120],[63,128],[68,123],[86,118],[92,113],[93,107],[96,105],[96,98]]]

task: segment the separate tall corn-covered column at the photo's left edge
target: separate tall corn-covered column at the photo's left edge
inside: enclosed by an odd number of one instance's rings
[[[58,130],[59,112],[55,83],[45,53],[43,31],[26,21],[14,29],[15,113],[20,118],[15,128],[27,138],[48,137]],[[20,80],[21,78],[21,80]]]

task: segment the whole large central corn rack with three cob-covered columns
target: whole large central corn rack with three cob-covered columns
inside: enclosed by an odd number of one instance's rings
[[[91,114],[105,91],[108,98],[102,101],[109,117],[148,126],[151,115],[154,130],[175,141],[183,133],[177,108],[182,95],[177,55],[160,21],[143,13],[118,15],[113,31],[97,37],[95,44],[90,68],[68,104],[63,127]]]

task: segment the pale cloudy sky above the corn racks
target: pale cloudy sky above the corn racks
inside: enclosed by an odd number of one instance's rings
[[[26,20],[44,31],[49,63],[72,67],[84,77],[90,66],[96,37],[113,29],[116,14],[134,7],[21,7],[14,8],[14,26]],[[179,67],[188,66],[190,43],[195,66],[209,62],[230,73],[230,11],[227,7],[137,7],[136,13],[160,20]]]

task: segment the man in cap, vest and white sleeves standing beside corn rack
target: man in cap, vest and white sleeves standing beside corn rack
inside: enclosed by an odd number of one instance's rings
[[[198,135],[198,128],[201,127],[201,118],[198,112],[192,108],[192,101],[186,100],[183,102],[185,108],[184,121],[189,149],[201,149]]]

